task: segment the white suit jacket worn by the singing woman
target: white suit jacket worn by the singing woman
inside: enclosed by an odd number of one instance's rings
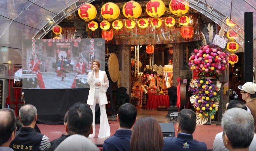
[[[101,86],[99,87],[100,100],[98,100],[98,102],[100,101],[101,105],[108,104],[106,92],[109,87],[109,81],[108,79],[106,81],[104,80],[105,76],[107,76],[106,72],[99,70],[99,82],[101,83]],[[95,73],[93,75],[92,75],[92,72],[88,73],[87,83],[90,85],[87,104],[93,105],[94,93],[95,93]]]

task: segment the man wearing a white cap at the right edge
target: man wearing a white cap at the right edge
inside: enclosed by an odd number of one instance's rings
[[[251,112],[254,118],[254,127],[256,133],[256,84],[253,82],[246,82],[244,85],[239,85],[238,89],[242,90],[242,99],[246,101],[247,110]]]

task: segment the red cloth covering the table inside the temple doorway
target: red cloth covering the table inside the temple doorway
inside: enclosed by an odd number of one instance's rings
[[[158,106],[170,107],[168,95],[148,95],[147,108],[157,109]]]

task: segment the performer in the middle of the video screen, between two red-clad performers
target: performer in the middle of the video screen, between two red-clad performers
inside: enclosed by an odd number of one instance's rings
[[[61,81],[64,81],[67,73],[67,63],[69,60],[65,59],[64,56],[61,56],[57,64],[57,76],[61,77]]]

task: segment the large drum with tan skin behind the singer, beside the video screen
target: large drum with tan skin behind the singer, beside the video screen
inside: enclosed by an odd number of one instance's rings
[[[119,75],[119,63],[115,53],[105,55],[105,70],[111,81],[116,82]]]

